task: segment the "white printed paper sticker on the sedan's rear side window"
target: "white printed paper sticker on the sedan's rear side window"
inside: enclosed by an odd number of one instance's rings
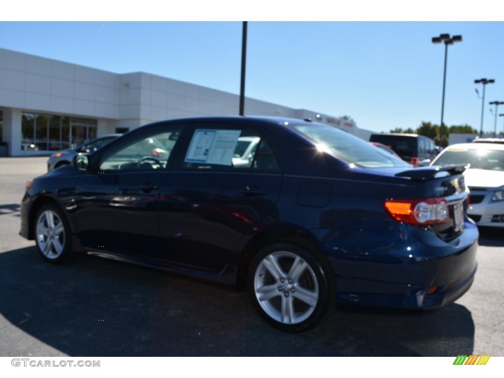
[[[187,150],[185,162],[232,165],[240,134],[240,130],[196,130]]]

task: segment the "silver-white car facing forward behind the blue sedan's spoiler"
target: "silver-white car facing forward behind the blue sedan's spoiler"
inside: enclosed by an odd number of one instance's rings
[[[430,165],[469,164],[467,215],[478,226],[504,227],[504,144],[460,143],[448,146]]]

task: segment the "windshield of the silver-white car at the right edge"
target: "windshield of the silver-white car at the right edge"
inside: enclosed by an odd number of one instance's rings
[[[504,170],[504,150],[484,150],[452,147],[439,155],[432,164],[470,164],[470,168]]]

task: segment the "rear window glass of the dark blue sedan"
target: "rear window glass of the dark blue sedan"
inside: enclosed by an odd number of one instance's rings
[[[302,134],[321,151],[326,151],[348,163],[367,168],[406,167],[408,163],[360,138],[329,125],[294,124],[292,128]]]

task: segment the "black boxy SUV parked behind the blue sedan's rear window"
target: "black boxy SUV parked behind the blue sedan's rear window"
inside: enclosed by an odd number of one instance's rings
[[[369,141],[390,147],[413,166],[428,165],[438,152],[433,139],[418,134],[372,134]]]

